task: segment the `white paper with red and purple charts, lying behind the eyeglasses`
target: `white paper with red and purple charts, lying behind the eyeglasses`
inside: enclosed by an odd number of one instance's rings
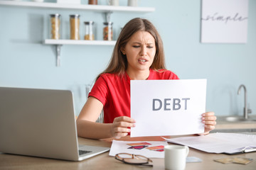
[[[150,145],[136,145],[136,146],[144,146],[142,149],[132,149],[131,145],[128,144],[138,144],[138,143],[148,143]],[[128,153],[128,154],[140,154],[144,157],[148,158],[164,158],[164,152],[159,152],[154,149],[150,149],[150,147],[158,147],[168,145],[165,141],[119,141],[113,140],[112,146],[110,149],[110,156],[115,156],[119,153]],[[130,149],[129,149],[130,148]]]

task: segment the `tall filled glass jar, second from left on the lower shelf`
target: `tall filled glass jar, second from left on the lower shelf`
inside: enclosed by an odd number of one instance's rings
[[[80,40],[79,26],[80,15],[70,15],[70,40]]]

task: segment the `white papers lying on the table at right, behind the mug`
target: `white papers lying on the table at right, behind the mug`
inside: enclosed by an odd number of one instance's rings
[[[164,139],[209,153],[240,154],[256,151],[256,135],[217,132],[196,137]]]

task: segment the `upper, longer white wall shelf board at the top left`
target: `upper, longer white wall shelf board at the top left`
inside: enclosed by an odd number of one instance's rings
[[[58,4],[49,2],[33,2],[33,1],[0,1],[0,5],[6,6],[24,6],[36,8],[64,8],[64,9],[78,9],[86,11],[100,11],[100,12],[154,12],[152,7],[134,7],[134,6],[102,6],[102,5],[85,5],[85,4]]]

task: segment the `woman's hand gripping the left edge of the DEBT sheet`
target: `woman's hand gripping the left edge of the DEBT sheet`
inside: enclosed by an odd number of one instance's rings
[[[132,127],[135,127],[135,120],[127,116],[120,116],[114,118],[111,127],[112,137],[119,139],[120,137],[127,136],[131,132]]]

